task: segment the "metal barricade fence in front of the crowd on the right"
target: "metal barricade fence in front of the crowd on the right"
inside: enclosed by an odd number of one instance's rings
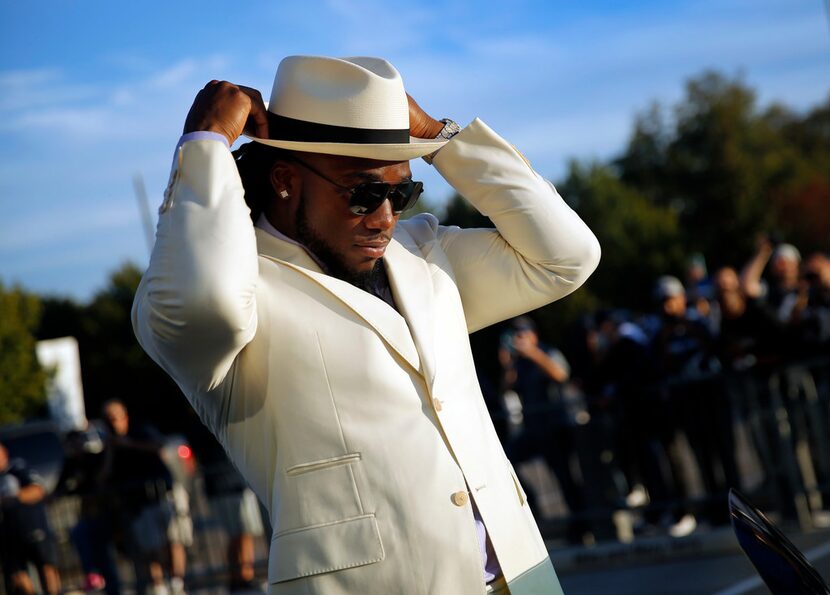
[[[656,413],[630,403],[593,407],[591,395],[582,398],[588,414],[575,416],[581,423],[550,430],[571,434],[570,470],[585,488],[580,510],[568,510],[561,478],[540,458],[519,465],[522,479],[537,490],[537,516],[548,537],[561,536],[576,516],[598,539],[630,538],[619,526],[620,511],[635,520],[682,511],[726,522],[730,487],[803,529],[827,524],[830,356],[644,384],[625,395],[652,403]],[[561,417],[553,411],[561,406],[536,407],[531,414]],[[653,419],[634,422],[632,410]],[[649,484],[643,468],[650,464],[660,468],[652,484],[672,485],[642,490]],[[657,488],[665,490],[649,493]]]

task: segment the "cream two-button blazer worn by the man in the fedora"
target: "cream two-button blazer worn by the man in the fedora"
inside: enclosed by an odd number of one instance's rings
[[[574,291],[599,244],[479,120],[434,165],[497,230],[399,222],[397,312],[255,230],[221,143],[179,149],[133,325],[266,504],[272,593],[482,594],[471,499],[510,592],[561,593],[468,334]]]

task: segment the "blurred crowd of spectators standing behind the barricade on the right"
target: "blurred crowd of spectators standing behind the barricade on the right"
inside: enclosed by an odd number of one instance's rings
[[[739,472],[741,424],[759,490],[791,516],[809,487],[823,506],[828,354],[830,258],[802,259],[764,237],[739,268],[709,274],[693,255],[684,281],[656,281],[651,311],[592,313],[557,347],[529,317],[514,320],[490,402],[514,464],[541,459],[556,478],[569,541],[597,532],[592,510],[617,507],[641,511],[637,531],[681,536],[728,522],[729,488],[750,483]],[[806,456],[793,454],[796,442]]]

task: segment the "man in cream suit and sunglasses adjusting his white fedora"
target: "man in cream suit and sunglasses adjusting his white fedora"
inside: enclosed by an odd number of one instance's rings
[[[399,222],[416,157],[497,229]],[[197,95],[133,324],[268,508],[272,593],[561,593],[468,334],[598,261],[483,122],[431,118],[384,60],[292,56],[267,108]]]

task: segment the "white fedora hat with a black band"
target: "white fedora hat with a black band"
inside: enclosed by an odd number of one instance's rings
[[[268,102],[270,138],[293,151],[405,161],[446,141],[409,136],[409,103],[398,71],[381,58],[289,56]]]

